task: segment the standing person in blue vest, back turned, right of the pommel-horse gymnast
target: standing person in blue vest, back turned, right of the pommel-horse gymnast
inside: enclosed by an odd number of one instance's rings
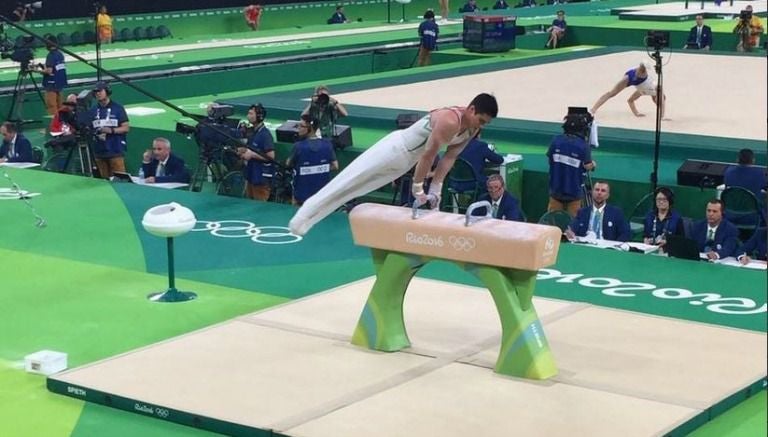
[[[586,138],[591,115],[569,113],[563,123],[563,134],[552,139],[549,158],[549,205],[547,211],[565,210],[575,217],[581,207],[584,172],[595,169]]]

